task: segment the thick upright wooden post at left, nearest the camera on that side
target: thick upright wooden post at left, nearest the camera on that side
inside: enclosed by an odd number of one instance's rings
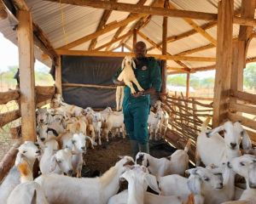
[[[29,11],[18,12],[17,30],[20,68],[21,131],[24,141],[36,140],[35,76],[32,18]]]

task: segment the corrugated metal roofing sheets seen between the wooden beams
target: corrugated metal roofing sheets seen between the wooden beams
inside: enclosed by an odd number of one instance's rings
[[[119,3],[137,3],[138,0],[119,0]],[[145,5],[150,5],[154,0],[148,0]],[[176,8],[191,10],[191,11],[201,11],[209,13],[218,12],[218,0],[172,0],[170,1]],[[68,42],[73,42],[80,37],[87,36],[96,31],[96,28],[102,19],[103,11],[102,9],[89,8],[89,7],[79,7],[68,4],[60,3],[50,3],[42,0],[26,0],[26,3],[32,11],[32,19],[35,23],[40,26],[44,31],[46,37],[54,48],[59,48],[64,46]],[[235,0],[235,10],[241,7],[241,0]],[[125,20],[129,13],[112,11],[110,17],[107,21],[108,24],[112,24],[115,20]],[[163,17],[153,16],[149,21],[147,26],[144,26],[140,31],[149,37],[153,42],[160,43],[162,41],[162,21]],[[205,25],[207,20],[193,20],[196,25]],[[124,35],[126,32],[130,31],[131,27],[135,24],[136,20],[129,23],[125,30],[120,33],[119,36]],[[233,26],[233,36],[237,37],[239,34],[239,26]],[[114,33],[118,29],[109,31],[97,38],[96,48],[102,46],[103,44],[110,42],[113,39]],[[168,18],[168,31],[167,36],[173,37],[185,33],[186,31],[193,30],[191,26],[183,19],[180,18]],[[3,35],[9,38],[10,41],[16,43],[16,32],[12,31],[9,27],[8,20],[2,20],[0,22],[0,31]],[[64,31],[66,35],[64,35]],[[217,27],[214,26],[207,29],[207,33],[216,39],[217,37]],[[142,40],[146,42],[142,37],[138,36],[137,40]],[[120,42],[120,41],[119,41]],[[119,45],[119,42],[114,42],[111,48],[115,48]],[[128,46],[132,47],[132,37],[128,42]],[[180,52],[200,48],[210,44],[206,37],[201,36],[199,33],[195,33],[192,36],[179,39],[175,42],[170,42],[167,45],[167,51],[170,54],[178,54]],[[152,45],[146,42],[147,47],[150,48]],[[90,41],[84,42],[83,44],[77,46],[73,49],[87,50],[89,48]],[[256,40],[252,40],[250,47],[248,49],[247,57],[253,58],[256,56]],[[188,56],[199,56],[199,57],[215,57],[215,48],[207,49],[205,51],[197,52],[194,54],[189,54]],[[153,49],[149,53],[151,54],[161,54],[159,49]],[[41,59],[42,52],[37,51],[37,58]],[[183,61],[184,64],[189,67],[198,67],[212,65],[209,62],[194,62],[194,61]],[[214,64],[214,63],[213,63]],[[167,65],[172,67],[180,67],[172,60],[168,60]]]

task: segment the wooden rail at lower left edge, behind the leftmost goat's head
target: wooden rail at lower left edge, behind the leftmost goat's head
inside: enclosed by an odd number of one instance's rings
[[[3,178],[9,173],[11,167],[15,164],[15,158],[18,153],[18,148],[21,144],[21,141],[16,142],[13,147],[5,154],[3,161],[0,161],[0,183]]]

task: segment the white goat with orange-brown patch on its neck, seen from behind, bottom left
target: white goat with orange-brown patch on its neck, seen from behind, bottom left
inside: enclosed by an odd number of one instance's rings
[[[20,184],[10,193],[7,204],[48,204],[41,186],[33,181],[32,169],[22,161],[18,165]]]

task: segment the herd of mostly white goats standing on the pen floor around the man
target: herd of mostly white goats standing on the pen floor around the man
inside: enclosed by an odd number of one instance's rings
[[[94,148],[102,144],[101,139],[108,141],[113,130],[113,135],[125,137],[124,116],[110,108],[93,111],[67,105],[60,95],[55,95],[51,107],[38,109],[38,145],[30,141],[20,145],[15,166],[0,186],[0,203],[256,204],[256,157],[240,122],[225,122],[207,130],[207,118],[196,142],[195,168],[189,169],[189,140],[184,150],[166,158],[143,152],[135,161],[131,156],[120,156],[101,177],[80,178],[86,141]],[[148,117],[150,139],[164,135],[169,120],[159,102],[156,110]],[[41,175],[33,179],[36,159]],[[200,167],[201,162],[206,167]],[[235,185],[236,174],[245,178],[244,188]],[[119,181],[124,179],[128,190],[117,194]],[[147,191],[148,186],[155,194]]]

